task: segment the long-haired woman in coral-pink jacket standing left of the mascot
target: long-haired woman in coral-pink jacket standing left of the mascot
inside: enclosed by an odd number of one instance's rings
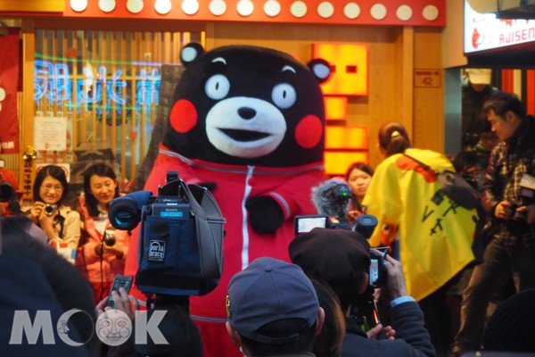
[[[78,199],[85,242],[77,262],[93,286],[95,303],[109,294],[113,278],[125,269],[128,232],[115,230],[108,220],[108,207],[118,196],[119,182],[109,165],[96,163],[86,170],[84,195]]]

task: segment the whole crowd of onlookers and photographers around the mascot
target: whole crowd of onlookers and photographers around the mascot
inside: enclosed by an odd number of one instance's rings
[[[413,147],[402,124],[387,123],[377,137],[383,162],[375,170],[353,162],[343,178],[352,194],[348,221],[354,224],[363,214],[378,220],[369,239],[345,228],[313,228],[292,240],[291,262],[262,257],[235,274],[226,329],[236,349],[244,356],[317,357],[535,353],[522,330],[535,317],[535,203],[523,185],[526,175],[535,174],[535,120],[516,95],[490,92],[481,109],[490,129],[476,130],[498,137],[486,164],[473,150],[451,161]],[[430,169],[457,170],[479,190],[481,203],[465,208],[449,199]],[[202,344],[217,343],[202,341],[187,297],[159,296],[140,312],[124,288],[111,292],[129,244],[128,231],[112,228],[108,216],[111,200],[121,195],[113,168],[95,163],[85,171],[75,207],[65,204],[68,189],[65,171],[48,165],[37,172],[27,211],[11,196],[0,206],[0,282],[9,289],[0,295],[3,321],[21,308],[48,308],[57,316],[78,309],[95,320],[117,310],[136,330],[138,320],[146,327],[166,311],[159,323],[168,343],[140,343],[131,334],[103,350],[93,333],[87,335],[94,326],[78,319],[72,328],[84,347],[37,340],[28,351],[10,345],[9,353],[196,357]],[[477,264],[474,237],[484,244]],[[370,283],[376,247],[388,247],[379,267],[387,277],[383,286]],[[490,301],[509,281],[512,296],[487,324]],[[452,291],[459,311],[448,302]],[[110,294],[113,309],[107,306]],[[458,327],[451,325],[456,314]],[[9,339],[11,327],[0,325],[0,335]]]

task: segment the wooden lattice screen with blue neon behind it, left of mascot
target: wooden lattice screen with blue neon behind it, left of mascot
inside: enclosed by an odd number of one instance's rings
[[[66,150],[40,150],[37,163],[73,162],[70,181],[80,184],[86,166],[104,160],[121,182],[134,181],[156,120],[161,66],[179,65],[191,41],[204,45],[204,32],[37,29],[34,126],[67,119]]]

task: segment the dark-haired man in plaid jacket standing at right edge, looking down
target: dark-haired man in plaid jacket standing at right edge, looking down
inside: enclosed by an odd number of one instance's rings
[[[500,140],[481,187],[481,204],[495,232],[463,293],[458,354],[481,348],[485,311],[500,281],[513,273],[517,291],[535,287],[535,201],[521,186],[524,175],[535,175],[535,120],[509,93],[491,95],[483,111]]]

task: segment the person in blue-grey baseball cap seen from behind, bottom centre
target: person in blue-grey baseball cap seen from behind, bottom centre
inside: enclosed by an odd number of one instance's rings
[[[325,319],[316,290],[297,265],[258,258],[235,274],[226,296],[226,329],[246,356],[314,356]]]

